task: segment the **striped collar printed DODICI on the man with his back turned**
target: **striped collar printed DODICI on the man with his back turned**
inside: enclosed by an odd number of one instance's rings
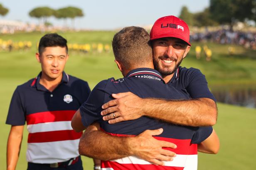
[[[162,75],[155,69],[150,69],[150,68],[138,68],[138,69],[133,69],[128,74],[126,77],[137,77],[139,79],[153,79],[156,81],[163,81]]]

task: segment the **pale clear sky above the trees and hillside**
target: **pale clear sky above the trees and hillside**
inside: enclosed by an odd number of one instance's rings
[[[38,19],[31,18],[29,12],[35,7],[59,9],[67,6],[79,7],[85,16],[75,19],[79,29],[111,30],[124,26],[148,26],[155,20],[167,15],[179,16],[182,6],[190,12],[202,11],[209,6],[209,0],[0,0],[9,9],[4,20],[19,20],[38,24]],[[63,26],[63,20],[49,18],[48,22]],[[71,26],[73,22],[68,21]]]

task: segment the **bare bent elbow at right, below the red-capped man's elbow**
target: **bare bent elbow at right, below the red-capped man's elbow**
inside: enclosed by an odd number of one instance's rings
[[[201,144],[197,145],[197,150],[203,153],[217,154],[219,152],[219,137],[216,132],[212,131],[212,134],[205,139]]]

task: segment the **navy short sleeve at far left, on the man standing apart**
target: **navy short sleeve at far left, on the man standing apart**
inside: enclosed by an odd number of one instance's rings
[[[17,88],[15,89],[12,95],[12,100],[10,103],[10,108],[9,108],[7,119],[6,119],[6,124],[19,126],[19,125],[25,125],[25,121],[26,121],[25,111],[22,107],[20,93]]]

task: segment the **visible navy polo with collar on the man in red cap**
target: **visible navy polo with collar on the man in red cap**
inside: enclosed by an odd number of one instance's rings
[[[216,103],[215,97],[209,91],[205,76],[199,69],[180,66],[167,84],[176,89],[186,90],[191,98],[210,98]]]

